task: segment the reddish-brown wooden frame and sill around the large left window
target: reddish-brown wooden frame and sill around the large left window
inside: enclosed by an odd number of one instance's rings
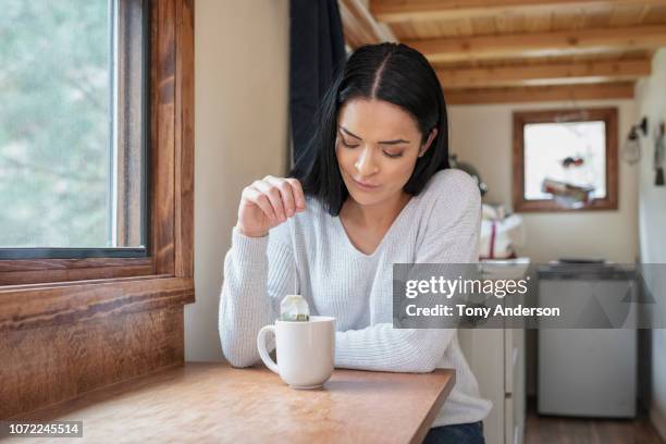
[[[0,331],[194,303],[194,0],[150,16],[150,254],[0,260]]]

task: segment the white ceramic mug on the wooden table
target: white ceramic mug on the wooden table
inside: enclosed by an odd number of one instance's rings
[[[266,335],[275,334],[278,363],[266,348]],[[335,318],[311,316],[307,322],[275,321],[257,335],[266,366],[294,388],[317,388],[331,378],[335,358]]]

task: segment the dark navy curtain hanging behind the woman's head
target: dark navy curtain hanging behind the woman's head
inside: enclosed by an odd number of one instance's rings
[[[289,108],[293,159],[306,152],[314,114],[345,61],[345,40],[337,0],[291,0]],[[306,162],[311,159],[304,159]]]

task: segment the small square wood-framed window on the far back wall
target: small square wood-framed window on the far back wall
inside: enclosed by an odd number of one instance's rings
[[[514,209],[617,209],[617,110],[514,113]]]

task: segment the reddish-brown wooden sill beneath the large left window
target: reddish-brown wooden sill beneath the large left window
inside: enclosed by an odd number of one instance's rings
[[[169,275],[5,286],[0,289],[0,332],[194,301],[194,280]]]

